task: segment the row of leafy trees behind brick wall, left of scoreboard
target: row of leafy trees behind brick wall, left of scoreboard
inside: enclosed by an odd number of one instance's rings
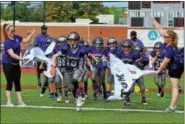
[[[110,13],[109,8],[104,7],[102,2],[45,2],[45,6],[46,22],[75,22],[77,18],[89,18],[93,20],[93,23],[97,23],[96,16]],[[43,21],[43,2],[38,6],[30,6],[30,2],[16,2],[15,8],[16,20],[22,22]],[[4,9],[2,19],[13,19],[11,5]]]

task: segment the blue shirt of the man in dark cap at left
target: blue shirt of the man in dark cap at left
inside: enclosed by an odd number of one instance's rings
[[[48,34],[44,35],[40,33],[35,37],[34,45],[41,48],[45,52],[47,48],[46,41],[48,39],[50,39],[50,36]]]

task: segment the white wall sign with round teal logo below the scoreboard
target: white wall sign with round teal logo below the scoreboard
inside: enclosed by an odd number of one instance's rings
[[[160,36],[159,32],[155,29],[128,29],[127,38],[130,38],[130,32],[136,31],[137,37],[140,39],[145,47],[153,47],[154,44],[158,41],[164,42],[164,39]],[[178,46],[184,47],[184,30],[174,30],[178,35]]]

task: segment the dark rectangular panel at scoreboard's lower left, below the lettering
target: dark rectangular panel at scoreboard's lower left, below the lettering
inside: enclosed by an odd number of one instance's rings
[[[131,27],[143,27],[144,18],[143,17],[132,17],[131,18]]]

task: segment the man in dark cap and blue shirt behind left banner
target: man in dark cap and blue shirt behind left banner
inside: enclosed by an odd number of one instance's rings
[[[34,45],[36,47],[41,48],[43,51],[46,50],[46,41],[50,39],[50,36],[47,34],[47,29],[48,27],[46,25],[41,26],[41,33],[38,34],[35,37],[34,40]],[[41,80],[40,80],[40,75],[42,73],[42,69],[40,69],[41,62],[37,62],[37,86],[41,87]]]

